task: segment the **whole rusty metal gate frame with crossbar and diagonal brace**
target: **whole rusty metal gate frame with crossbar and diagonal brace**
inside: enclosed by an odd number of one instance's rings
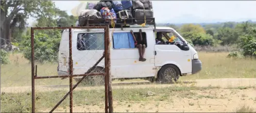
[[[102,59],[105,57],[105,72],[103,73],[88,73],[88,71],[85,74],[79,74],[79,75],[73,75],[73,60],[72,60],[72,34],[71,30],[72,28],[82,28],[82,29],[93,29],[93,28],[103,28],[104,29],[104,55],[94,64],[93,67],[96,67]],[[63,75],[63,76],[37,76],[37,66],[34,66],[34,30],[35,29],[68,29],[69,31],[69,75]],[[52,108],[50,113],[52,113],[63,101],[66,99],[69,95],[69,112],[73,112],[73,93],[72,91],[82,82],[83,79],[85,79],[86,76],[95,76],[95,75],[105,75],[105,113],[108,113],[108,109],[112,108],[110,110],[111,113],[113,113],[113,106],[112,106],[112,90],[109,91],[108,89],[111,89],[111,73],[110,73],[110,41],[109,41],[109,25],[106,26],[83,26],[83,27],[35,27],[31,28],[31,74],[32,74],[32,113],[35,112],[35,79],[46,79],[46,78],[66,78],[69,77],[69,91],[68,93]],[[35,68],[36,67],[36,70]],[[35,72],[34,72],[35,71]],[[82,79],[80,79],[76,85],[72,85],[72,77],[78,77],[83,76]],[[110,77],[110,78],[109,78]],[[108,93],[111,92],[110,95]],[[111,96],[111,97],[109,97]],[[110,102],[112,101],[112,102]],[[111,103],[111,106],[108,106],[108,103]]]

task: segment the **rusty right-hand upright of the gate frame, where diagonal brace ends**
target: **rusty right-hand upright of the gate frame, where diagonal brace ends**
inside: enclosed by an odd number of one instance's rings
[[[107,56],[108,56],[108,45],[107,45],[107,40],[108,40],[108,29],[104,28],[104,56],[105,56],[105,113],[108,113],[108,69],[107,69]]]

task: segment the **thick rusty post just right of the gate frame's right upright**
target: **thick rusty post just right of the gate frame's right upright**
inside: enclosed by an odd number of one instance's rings
[[[113,113],[113,98],[112,98],[112,77],[111,77],[111,61],[110,61],[110,39],[109,39],[109,25],[107,25],[107,33],[106,35],[106,44],[107,44],[107,54],[105,54],[105,60],[107,62],[107,66],[105,68],[107,74],[107,82],[108,82],[108,112]]]

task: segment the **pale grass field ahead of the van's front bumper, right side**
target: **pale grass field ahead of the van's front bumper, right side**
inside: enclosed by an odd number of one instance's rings
[[[180,80],[215,78],[256,78],[256,59],[227,58],[228,53],[199,52],[203,69],[197,74],[180,77]]]

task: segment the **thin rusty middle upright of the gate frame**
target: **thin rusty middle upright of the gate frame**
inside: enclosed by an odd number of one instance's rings
[[[72,60],[72,34],[71,34],[71,28],[68,28],[69,32],[69,75],[73,74],[73,60]],[[73,83],[72,83],[72,76],[69,76],[69,112],[73,113]]]

